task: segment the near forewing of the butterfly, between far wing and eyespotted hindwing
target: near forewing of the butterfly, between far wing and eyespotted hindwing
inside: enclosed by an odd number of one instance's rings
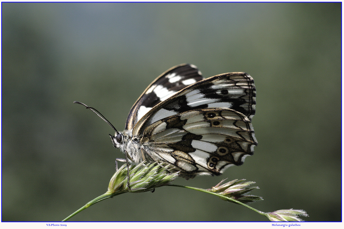
[[[244,72],[224,73],[198,81],[153,107],[135,125],[140,135],[160,119],[199,108],[231,108],[249,119],[255,114],[256,89],[252,77]]]

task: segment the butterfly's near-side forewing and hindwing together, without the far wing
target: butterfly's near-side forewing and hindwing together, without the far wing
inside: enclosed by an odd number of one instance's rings
[[[234,72],[198,81],[146,113],[132,134],[141,137],[149,160],[166,161],[185,178],[219,175],[240,165],[257,145],[253,79]]]

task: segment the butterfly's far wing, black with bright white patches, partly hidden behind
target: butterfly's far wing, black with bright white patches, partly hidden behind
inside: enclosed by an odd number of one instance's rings
[[[132,106],[126,129],[132,129],[138,120],[158,103],[202,79],[202,73],[190,64],[177,65],[165,71],[144,90]]]

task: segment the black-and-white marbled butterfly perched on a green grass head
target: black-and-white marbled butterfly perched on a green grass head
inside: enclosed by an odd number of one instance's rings
[[[203,79],[196,66],[182,64],[162,73],[144,90],[122,132],[102,118],[116,131],[110,138],[125,153],[122,161],[166,162],[180,171],[179,176],[190,179],[220,175],[253,154],[255,106],[255,84],[247,73]]]

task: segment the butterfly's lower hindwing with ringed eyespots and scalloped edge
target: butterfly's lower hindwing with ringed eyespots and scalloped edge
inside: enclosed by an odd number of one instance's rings
[[[149,125],[141,139],[153,160],[181,170],[185,178],[221,174],[240,165],[257,145],[250,120],[229,108],[182,112]]]

